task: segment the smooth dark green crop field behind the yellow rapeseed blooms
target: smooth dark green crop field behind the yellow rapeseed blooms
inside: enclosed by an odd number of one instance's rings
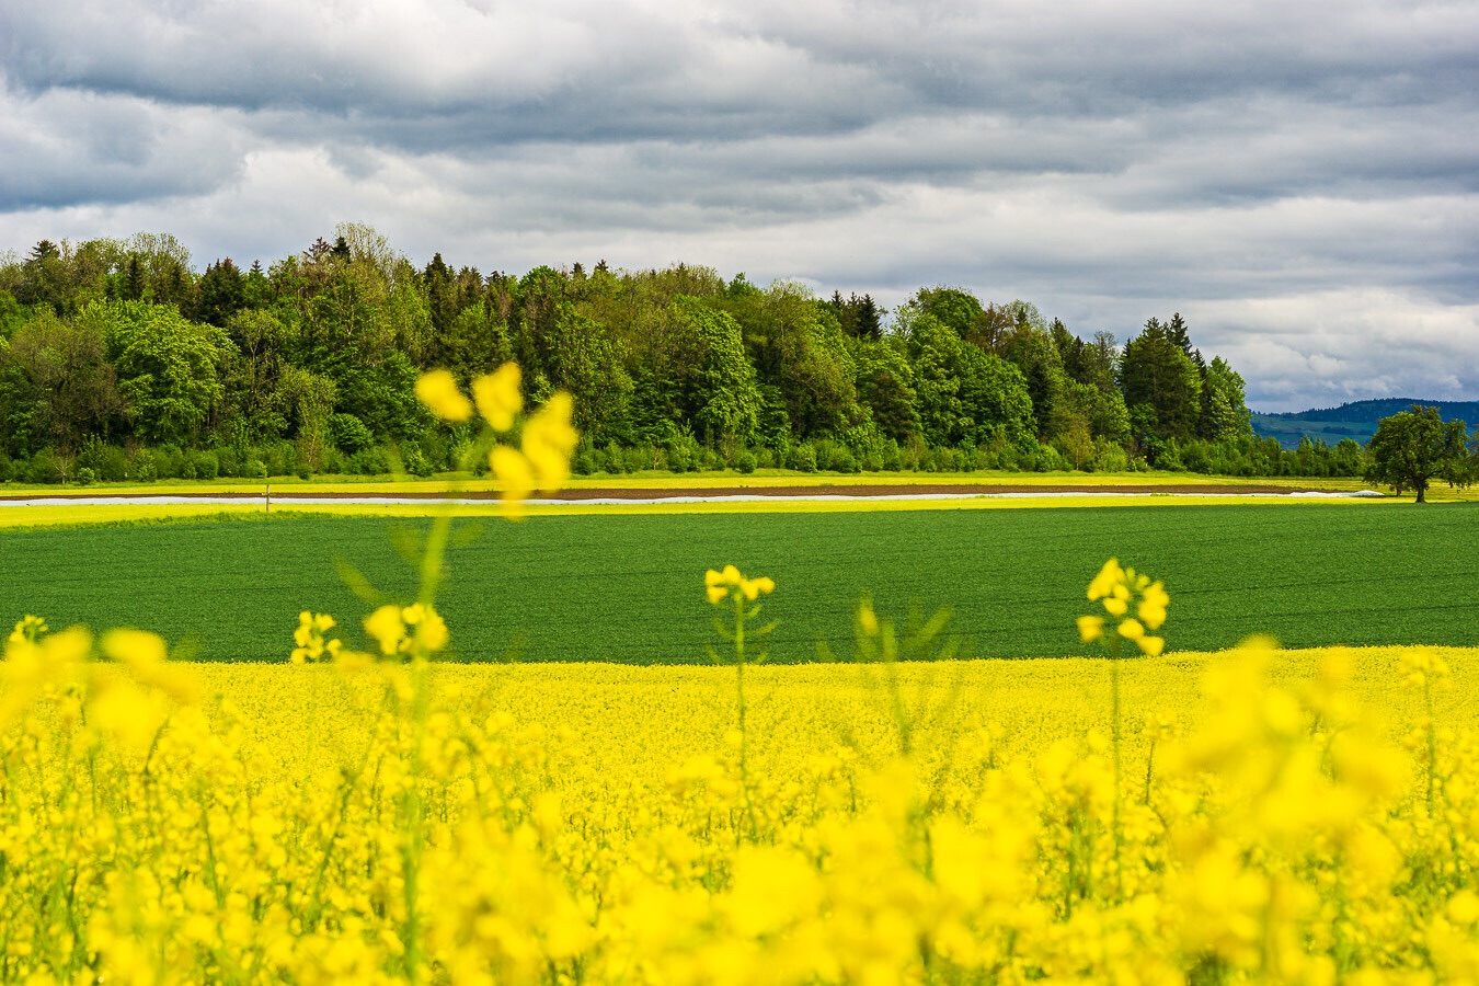
[[[1078,650],[1084,585],[1111,554],[1162,578],[1171,649],[1250,633],[1288,646],[1479,645],[1479,504],[1197,506],[559,516],[461,522],[439,608],[461,659],[703,662],[703,574],[771,575],[779,661],[846,655],[864,593],[884,615],[948,605],[967,656]],[[410,594],[424,520],[294,517],[7,531],[0,615],[142,625],[206,659],[281,661],[300,609],[353,642],[343,559]]]

